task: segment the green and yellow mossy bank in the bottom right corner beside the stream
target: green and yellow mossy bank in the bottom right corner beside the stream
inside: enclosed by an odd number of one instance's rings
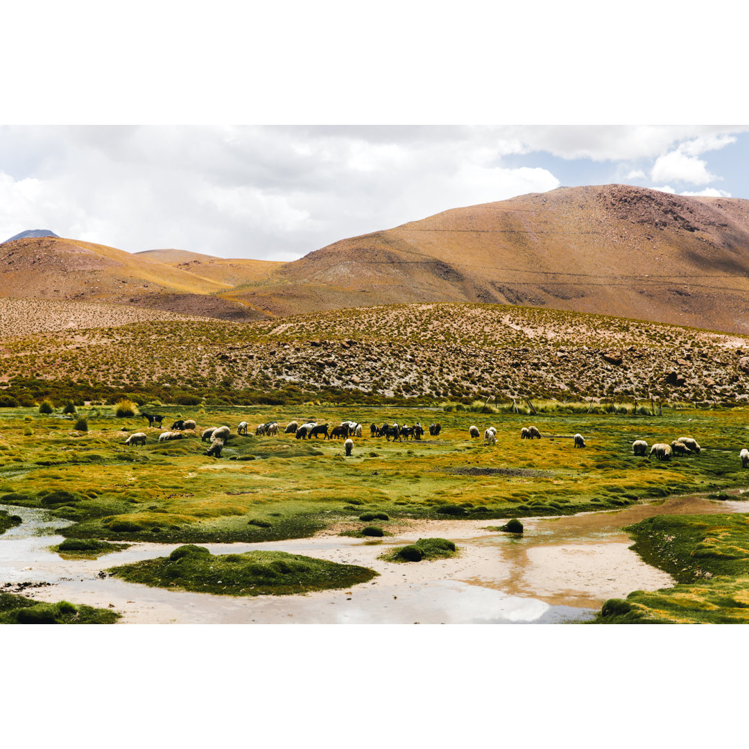
[[[676,578],[673,588],[606,601],[603,624],[749,622],[747,515],[660,515],[626,530],[643,560]]]

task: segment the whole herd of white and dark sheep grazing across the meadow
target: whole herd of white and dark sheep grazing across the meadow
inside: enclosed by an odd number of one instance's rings
[[[153,426],[158,424],[161,426],[164,416],[159,416],[152,413],[142,413],[141,416],[148,419],[148,425]],[[172,428],[168,431],[163,431],[159,435],[159,442],[166,442],[169,440],[181,440],[184,436],[185,431],[195,431],[197,425],[192,419],[178,419],[172,424]],[[440,424],[430,424],[429,434],[432,437],[436,437],[440,434],[442,426]],[[237,425],[237,434],[240,436],[247,436],[249,431],[249,423],[246,421],[240,422]],[[424,434],[424,428],[419,422],[416,422],[413,426],[398,425],[384,423],[381,426],[377,424],[370,424],[369,431],[372,437],[385,437],[389,442],[392,438],[394,441],[400,442],[401,440],[421,440],[422,434]],[[361,437],[363,427],[358,422],[345,421],[341,422],[340,425],[330,428],[330,425],[318,424],[317,422],[289,422],[285,429],[284,434],[294,434],[297,440],[311,440],[312,437],[318,439],[320,435],[325,440],[333,440],[336,437],[342,437],[344,439],[344,449],[346,455],[351,455],[354,449],[354,440],[351,437]],[[255,427],[255,436],[261,437],[266,435],[274,435],[279,433],[278,422],[267,422],[264,424],[258,424]],[[221,457],[221,451],[228,441],[231,429],[228,426],[210,427],[205,429],[201,433],[201,440],[203,442],[209,442],[210,446],[206,450],[206,455],[212,455],[215,458]],[[468,434],[473,439],[480,437],[481,433],[476,425],[471,425],[468,428]],[[542,437],[541,432],[535,426],[523,427],[520,433],[521,440],[540,440]],[[145,432],[139,431],[134,434],[130,434],[125,440],[126,445],[145,445],[147,440]],[[574,447],[585,447],[585,438],[582,434],[575,434],[572,437]],[[493,426],[484,430],[484,444],[494,445],[497,443],[497,429]],[[648,443],[645,440],[634,440],[632,443],[632,452],[634,455],[641,455],[647,457],[648,460],[655,455],[659,461],[670,461],[672,455],[692,455],[699,454],[700,446],[697,444],[697,440],[692,437],[678,437],[673,440],[670,444],[664,442],[655,443],[650,447],[648,452]],[[739,452],[739,458],[742,461],[742,467],[746,468],[749,466],[749,449],[742,449]]]

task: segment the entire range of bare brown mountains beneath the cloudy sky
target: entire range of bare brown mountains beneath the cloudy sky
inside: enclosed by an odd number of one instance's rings
[[[291,263],[58,237],[0,245],[0,296],[252,320],[392,303],[539,306],[749,333],[749,201],[624,185],[447,210]]]

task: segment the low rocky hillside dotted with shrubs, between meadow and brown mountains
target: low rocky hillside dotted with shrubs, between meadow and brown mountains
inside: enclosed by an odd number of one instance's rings
[[[391,396],[749,398],[746,339],[516,306],[386,306],[252,324],[139,322],[7,337],[1,344],[0,380],[70,378],[151,392],[189,389],[219,399],[242,391],[276,398],[348,392],[375,402]]]

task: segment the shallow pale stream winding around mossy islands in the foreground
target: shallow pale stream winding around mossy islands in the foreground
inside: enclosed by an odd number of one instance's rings
[[[739,499],[671,497],[626,509],[524,520],[520,538],[486,530],[503,521],[413,521],[383,542],[315,536],[259,544],[203,544],[213,554],[288,551],[375,569],[379,577],[346,590],[247,598],[151,588],[103,569],[166,556],[178,544],[136,543],[98,560],[64,560],[49,551],[69,524],[43,509],[4,506],[23,522],[0,536],[0,590],[40,601],[112,607],[121,623],[183,624],[554,624],[592,619],[607,598],[672,586],[646,565],[621,529],[652,515],[749,512]],[[377,560],[391,546],[426,536],[451,539],[458,557],[393,564]]]

